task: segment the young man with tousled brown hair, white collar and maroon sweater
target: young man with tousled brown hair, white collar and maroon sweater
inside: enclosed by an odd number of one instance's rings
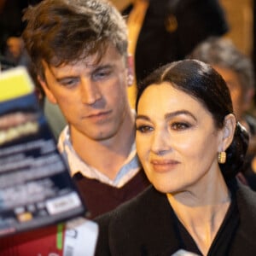
[[[58,148],[95,218],[148,187],[126,91],[132,67],[125,20],[100,0],[44,0],[23,18],[38,81],[67,119]]]

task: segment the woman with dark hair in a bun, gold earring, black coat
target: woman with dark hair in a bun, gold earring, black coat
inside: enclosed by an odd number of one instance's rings
[[[97,219],[96,255],[256,255],[256,194],[236,179],[248,135],[224,79],[201,61],[160,67],[136,125],[152,186]]]

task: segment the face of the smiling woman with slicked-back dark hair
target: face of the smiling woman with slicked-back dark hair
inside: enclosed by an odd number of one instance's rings
[[[137,154],[156,189],[175,193],[212,183],[223,131],[195,98],[166,82],[151,84],[138,103],[136,126]]]

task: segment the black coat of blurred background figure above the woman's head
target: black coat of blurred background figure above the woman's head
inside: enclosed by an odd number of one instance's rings
[[[123,14],[129,15],[131,7]],[[137,81],[156,67],[182,60],[195,45],[229,29],[218,0],[149,0],[137,39]]]

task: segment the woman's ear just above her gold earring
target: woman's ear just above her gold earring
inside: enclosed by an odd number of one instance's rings
[[[230,147],[236,131],[236,117],[233,113],[229,113],[224,118],[224,127],[219,144],[218,152],[225,151]]]

